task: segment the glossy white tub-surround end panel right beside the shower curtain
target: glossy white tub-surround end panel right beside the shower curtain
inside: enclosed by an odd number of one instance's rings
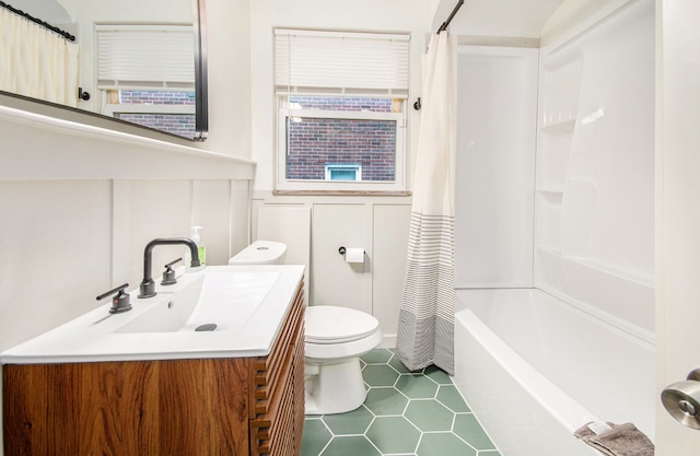
[[[459,46],[456,288],[533,287],[538,57]]]

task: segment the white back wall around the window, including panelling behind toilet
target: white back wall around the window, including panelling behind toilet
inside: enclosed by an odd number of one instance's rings
[[[250,2],[252,142],[258,163],[254,207],[302,204],[312,210],[311,290],[313,304],[360,308],[375,315],[394,346],[408,245],[409,197],[273,196],[276,172],[276,102],[273,92],[272,30],[307,27],[348,31],[408,32],[411,34],[411,85],[408,107],[409,182],[412,144],[420,113],[412,109],[420,96],[420,56],[430,27],[424,0],[256,0]],[[255,220],[254,211],[254,220]],[[284,223],[283,220],[278,221]],[[342,260],[338,247],[364,247],[364,267]]]

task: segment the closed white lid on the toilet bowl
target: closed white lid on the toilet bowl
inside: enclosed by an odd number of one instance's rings
[[[316,305],[306,307],[305,327],[306,342],[340,343],[370,336],[380,321],[354,308]]]

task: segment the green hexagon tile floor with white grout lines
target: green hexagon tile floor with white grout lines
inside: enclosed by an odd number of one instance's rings
[[[306,417],[301,456],[500,456],[443,371],[411,373],[387,349],[361,363],[366,401]]]

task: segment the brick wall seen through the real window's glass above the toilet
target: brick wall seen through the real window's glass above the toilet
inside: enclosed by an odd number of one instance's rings
[[[303,109],[392,112],[389,98],[290,96],[289,102]],[[395,121],[290,118],[287,127],[288,179],[323,180],[327,163],[360,163],[362,180],[395,179]]]

